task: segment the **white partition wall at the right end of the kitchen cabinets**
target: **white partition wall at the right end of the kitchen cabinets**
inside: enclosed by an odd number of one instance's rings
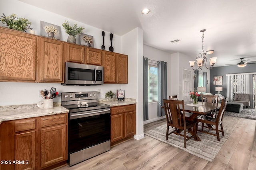
[[[128,55],[128,84],[123,84],[125,94],[136,98],[136,135],[144,137],[143,128],[143,31],[135,28],[122,36],[122,53]]]

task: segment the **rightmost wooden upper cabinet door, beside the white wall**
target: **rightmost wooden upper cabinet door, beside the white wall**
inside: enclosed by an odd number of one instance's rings
[[[128,56],[117,54],[117,83],[128,83]]]

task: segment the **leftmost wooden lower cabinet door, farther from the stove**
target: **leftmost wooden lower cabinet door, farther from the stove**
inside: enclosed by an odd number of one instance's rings
[[[15,135],[15,161],[16,170],[36,169],[35,131]]]

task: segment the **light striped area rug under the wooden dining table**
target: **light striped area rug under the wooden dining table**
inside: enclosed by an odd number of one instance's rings
[[[169,127],[169,133],[172,130],[173,128]],[[214,131],[211,131],[211,132],[214,133]],[[212,162],[214,160],[215,156],[218,154],[218,152],[220,151],[220,149],[222,148],[222,146],[224,145],[224,143],[226,142],[226,140],[228,139],[231,133],[232,133],[231,130],[224,128],[225,136],[223,137],[222,134],[220,133],[220,141],[217,141],[216,136],[198,132],[198,136],[202,141],[194,141],[194,139],[190,139],[186,142],[186,148],[184,148],[184,137],[182,136],[171,134],[168,136],[168,141],[165,140],[166,125],[162,125],[144,132],[144,134],[149,137],[152,137],[168,145],[172,145],[190,154],[193,154],[202,159],[208,160],[209,162]]]

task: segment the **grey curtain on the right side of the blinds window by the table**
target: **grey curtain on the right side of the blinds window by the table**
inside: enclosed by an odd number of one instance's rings
[[[164,99],[167,99],[167,63],[164,61],[157,61],[157,77],[158,77],[158,105],[157,115],[164,116]]]

